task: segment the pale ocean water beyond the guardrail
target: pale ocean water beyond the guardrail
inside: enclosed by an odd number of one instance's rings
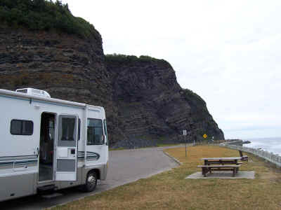
[[[243,144],[243,146],[251,148],[261,148],[264,151],[281,155],[281,137],[243,139],[243,141],[251,141],[251,144]]]

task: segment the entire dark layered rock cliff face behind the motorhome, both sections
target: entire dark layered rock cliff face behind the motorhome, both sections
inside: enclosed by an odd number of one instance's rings
[[[118,56],[117,56],[118,57]],[[90,38],[0,26],[0,88],[34,87],[51,97],[105,107],[111,146],[150,146],[207,133],[224,139],[205,102],[176,82],[159,59],[103,54],[98,31]]]

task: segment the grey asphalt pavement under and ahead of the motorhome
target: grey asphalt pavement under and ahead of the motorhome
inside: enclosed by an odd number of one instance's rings
[[[178,163],[175,160],[163,153],[163,148],[110,151],[107,179],[98,181],[98,186],[94,192],[82,193],[75,187],[67,188],[58,190],[52,195],[32,195],[0,202],[0,207],[1,210],[37,210],[54,207],[89,195],[95,195],[138,179],[148,178],[177,166]]]

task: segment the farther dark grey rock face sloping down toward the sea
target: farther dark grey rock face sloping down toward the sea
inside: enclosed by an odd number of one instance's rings
[[[129,138],[119,146],[143,144],[144,139],[150,139],[150,144],[182,141],[183,129],[188,130],[189,140],[201,140],[204,133],[224,139],[205,102],[178,85],[168,62],[133,56],[105,60],[112,75],[117,126]]]

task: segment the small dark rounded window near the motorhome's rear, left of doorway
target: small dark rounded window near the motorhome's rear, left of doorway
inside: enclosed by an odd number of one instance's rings
[[[12,120],[10,132],[12,135],[32,135],[33,122],[30,120]]]

